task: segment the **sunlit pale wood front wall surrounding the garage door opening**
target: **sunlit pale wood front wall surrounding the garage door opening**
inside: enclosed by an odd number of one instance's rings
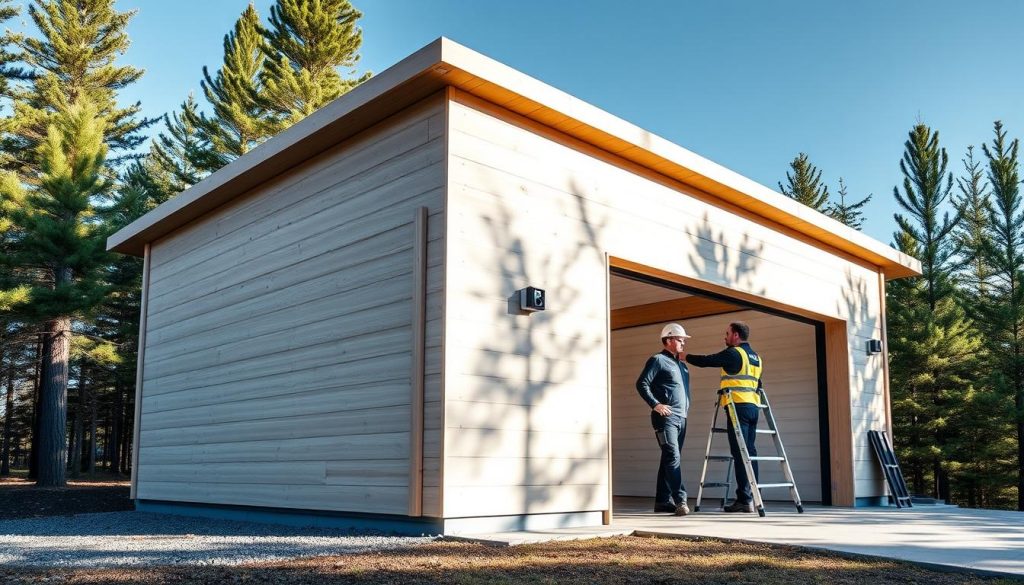
[[[461,92],[450,106],[445,515],[603,509],[607,472],[581,465],[549,472],[546,458],[606,457],[604,254],[756,298],[846,321],[854,445],[882,427],[878,273],[749,210],[718,203],[549,128]],[[510,315],[508,298],[531,285],[548,310]],[[526,424],[559,420],[561,443],[509,428],[510,406],[529,405]],[[866,403],[863,406],[859,406]],[[487,422],[470,423],[485,413]],[[549,413],[550,416],[549,416]],[[466,444],[466,445],[464,445]],[[468,446],[467,446],[468,445]],[[460,448],[460,451],[456,451]],[[479,459],[508,457],[522,473],[478,499]],[[857,460],[856,496],[882,493],[869,459]],[[523,479],[525,477],[525,479]],[[530,486],[532,499],[513,498]],[[573,494],[577,499],[562,494]],[[581,495],[585,494],[585,495]],[[565,505],[562,502],[567,502]],[[568,507],[566,507],[568,506]]]

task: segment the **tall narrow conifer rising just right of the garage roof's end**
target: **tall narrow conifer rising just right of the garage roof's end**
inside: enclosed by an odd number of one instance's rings
[[[946,413],[949,405],[955,402],[956,392],[963,391],[964,387],[959,372],[947,367],[946,362],[956,348],[937,342],[949,339],[949,332],[970,330],[966,316],[953,302],[951,259],[956,248],[951,232],[959,215],[950,217],[945,213],[939,216],[939,209],[949,198],[953,179],[946,172],[948,155],[939,147],[938,132],[933,132],[925,124],[916,124],[910,130],[904,149],[900,161],[903,191],[893,189],[897,204],[907,213],[894,215],[900,227],[897,243],[913,243],[913,251],[922,263],[922,276],[920,283],[913,283],[915,288],[906,291],[910,298],[894,298],[897,304],[909,303],[913,306],[912,319],[889,320],[890,329],[896,330],[899,340],[898,352],[913,357],[912,360],[893,361],[893,369],[900,369],[898,374],[894,373],[894,379],[906,376],[908,384],[904,387],[894,384],[893,395],[899,400],[893,401],[893,415],[897,416],[897,404],[902,406],[905,395],[914,398],[915,410],[912,414],[918,428],[901,430],[910,430],[911,434],[927,433],[932,437],[932,453],[927,457],[934,482],[932,493],[940,499],[948,499],[949,483],[943,467],[944,459],[949,456],[946,451],[949,433]],[[909,288],[907,285],[895,287]],[[894,315],[901,316],[905,309],[897,306]],[[915,346],[900,345],[904,340]],[[893,348],[892,342],[890,347]],[[923,350],[927,352],[921,353]]]

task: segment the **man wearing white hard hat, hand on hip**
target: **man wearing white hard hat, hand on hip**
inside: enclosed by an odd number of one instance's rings
[[[680,358],[687,338],[689,335],[678,323],[663,327],[663,349],[647,360],[637,378],[637,391],[650,407],[650,423],[662,449],[654,511],[677,516],[690,513],[679,454],[686,438],[686,415],[690,409],[690,371]]]

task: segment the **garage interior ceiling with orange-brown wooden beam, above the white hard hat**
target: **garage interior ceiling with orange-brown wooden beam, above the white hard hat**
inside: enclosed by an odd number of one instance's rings
[[[746,307],[611,275],[611,329],[722,315]]]

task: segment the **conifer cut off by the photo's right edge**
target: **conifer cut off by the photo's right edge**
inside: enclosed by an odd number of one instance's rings
[[[1021,211],[1018,150],[1007,139],[1001,122],[994,124],[992,144],[982,144],[988,160],[988,182],[994,210],[987,259],[993,270],[992,303],[987,316],[989,338],[1017,433],[1017,509],[1024,510],[1024,213]]]

